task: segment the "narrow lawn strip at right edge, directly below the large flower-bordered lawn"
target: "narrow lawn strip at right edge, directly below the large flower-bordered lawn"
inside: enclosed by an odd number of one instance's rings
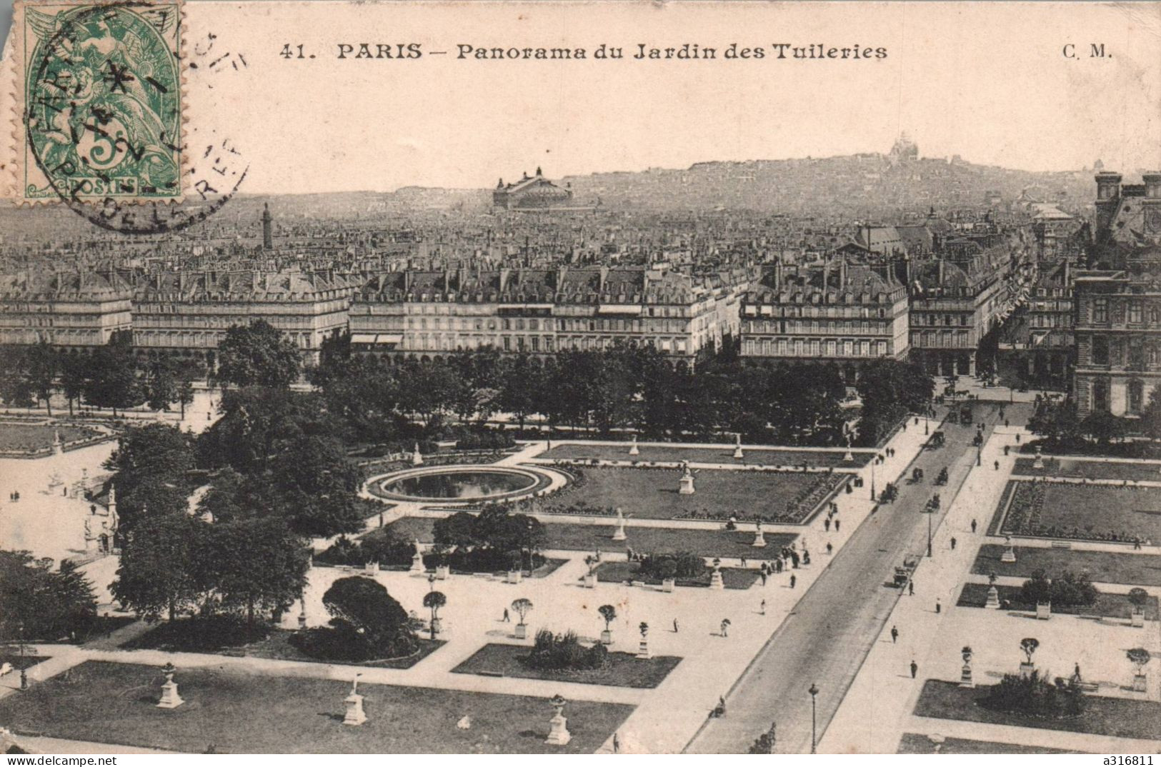
[[[1076,551],[1073,549],[1040,549],[1015,547],[1016,562],[1000,562],[1003,545],[985,544],[975,556],[972,572],[986,576],[1031,578],[1033,570],[1044,570],[1055,578],[1066,570],[1087,571],[1089,579],[1102,584],[1130,586],[1161,586],[1161,557],[1147,553],[1112,551]]]

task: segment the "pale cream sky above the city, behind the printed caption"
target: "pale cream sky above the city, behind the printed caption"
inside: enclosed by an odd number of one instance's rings
[[[628,58],[639,43],[686,42],[719,58]],[[424,56],[339,59],[344,43],[417,43]],[[460,44],[591,56],[601,43],[627,58],[456,56]],[[727,60],[730,43],[766,56]],[[774,43],[887,55],[777,59]],[[194,1],[186,56],[201,66],[187,79],[187,138],[230,142],[255,194],[492,187],[538,165],[560,178],[886,152],[901,131],[924,157],[1030,171],[1099,158],[1133,174],[1161,168],[1158,50],[1156,2]]]

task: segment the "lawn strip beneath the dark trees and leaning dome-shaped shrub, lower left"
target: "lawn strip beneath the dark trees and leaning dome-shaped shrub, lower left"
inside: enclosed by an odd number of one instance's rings
[[[214,618],[188,617],[159,623],[127,643],[123,650],[165,650],[166,652],[210,652],[237,658],[272,658],[308,663],[349,664],[374,668],[411,668],[439,650],[444,642],[419,638],[419,650],[405,658],[351,661],[309,656],[290,643],[296,631],[262,627],[260,636],[247,637],[245,624]]]

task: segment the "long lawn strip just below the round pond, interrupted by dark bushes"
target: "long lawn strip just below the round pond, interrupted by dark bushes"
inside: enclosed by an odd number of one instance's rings
[[[384,530],[395,533],[406,541],[419,538],[431,543],[434,519],[426,516],[403,516],[388,524]],[[543,545],[547,550],[565,551],[625,551],[632,547],[641,553],[672,553],[692,551],[702,557],[747,557],[751,559],[773,558],[783,547],[798,536],[793,533],[764,533],[766,545],[756,549],[753,530],[683,530],[661,527],[626,526],[625,541],[613,541],[615,524],[571,524],[546,522]],[[369,533],[368,535],[373,535]],[[366,536],[365,536],[366,537]]]

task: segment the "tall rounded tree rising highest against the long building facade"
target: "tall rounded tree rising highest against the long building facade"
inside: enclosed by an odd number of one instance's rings
[[[233,325],[218,343],[216,379],[235,386],[287,389],[298,379],[302,354],[265,320]]]

